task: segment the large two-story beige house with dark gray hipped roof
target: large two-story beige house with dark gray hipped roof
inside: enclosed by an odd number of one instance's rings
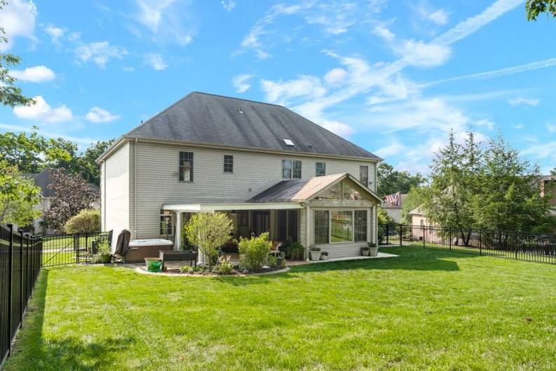
[[[283,106],[192,92],[97,160],[102,229],[179,248],[192,213],[222,211],[236,237],[360,255],[377,241],[380,160]]]

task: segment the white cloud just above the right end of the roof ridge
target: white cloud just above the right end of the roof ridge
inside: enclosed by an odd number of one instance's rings
[[[315,99],[326,93],[326,88],[320,78],[302,75],[294,80],[261,80],[261,87],[269,102],[280,102],[285,104],[294,97],[305,97]]]

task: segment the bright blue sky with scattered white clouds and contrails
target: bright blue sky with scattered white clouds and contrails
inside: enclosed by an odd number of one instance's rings
[[[556,166],[556,20],[524,1],[9,2],[3,50],[37,104],[0,108],[1,131],[85,148],[196,90],[284,104],[412,173],[450,129]]]

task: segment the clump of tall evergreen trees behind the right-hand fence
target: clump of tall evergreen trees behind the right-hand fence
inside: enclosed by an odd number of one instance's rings
[[[548,197],[541,195],[538,166],[522,160],[501,135],[480,149],[472,133],[464,144],[451,133],[430,169],[430,185],[419,197],[431,223],[458,230],[555,228]]]

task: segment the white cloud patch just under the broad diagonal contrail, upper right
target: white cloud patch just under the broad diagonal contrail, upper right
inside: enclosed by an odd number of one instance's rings
[[[409,64],[420,67],[440,66],[447,62],[451,54],[445,45],[414,40],[403,42],[397,51]]]

